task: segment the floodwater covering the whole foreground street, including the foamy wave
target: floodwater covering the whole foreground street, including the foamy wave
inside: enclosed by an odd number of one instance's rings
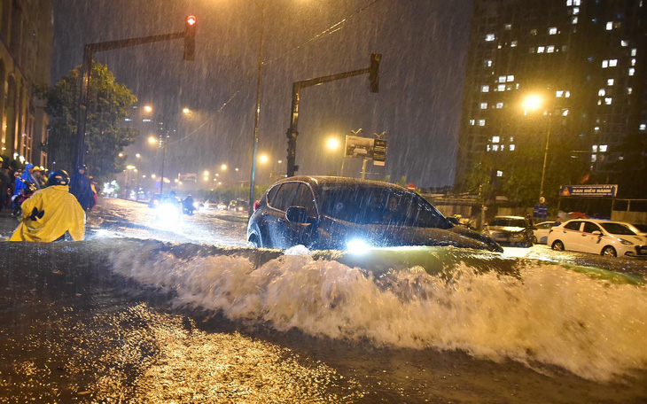
[[[641,276],[130,238],[3,243],[0,266],[2,402],[647,400]]]

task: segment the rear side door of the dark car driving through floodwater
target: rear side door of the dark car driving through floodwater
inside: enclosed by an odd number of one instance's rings
[[[263,218],[268,227],[268,246],[274,248],[287,248],[289,245],[289,232],[286,226],[285,211],[292,206],[292,199],[299,188],[299,183],[282,183],[277,195],[268,203],[268,210],[263,212]]]

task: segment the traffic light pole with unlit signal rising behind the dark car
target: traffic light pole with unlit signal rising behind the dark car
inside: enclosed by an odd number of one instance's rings
[[[370,74],[370,90],[371,92],[378,92],[377,89],[377,74],[380,55],[373,53],[371,56],[370,67],[365,69],[353,70],[350,72],[331,74],[323,77],[316,77],[301,82],[294,82],[292,84],[292,115],[290,117],[290,128],[287,129],[287,176],[293,176],[298,167],[296,164],[297,154],[297,136],[299,136],[299,102],[301,97],[301,89],[308,87],[318,86],[326,82],[335,82],[337,80],[347,79],[360,74]],[[376,62],[377,60],[377,62]]]

